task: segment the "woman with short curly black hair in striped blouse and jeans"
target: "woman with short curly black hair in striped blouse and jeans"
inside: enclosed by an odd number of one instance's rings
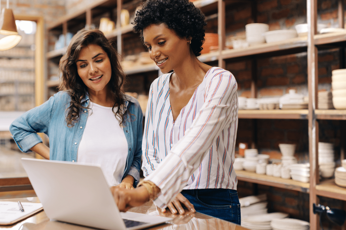
[[[183,204],[240,224],[233,169],[237,82],[229,71],[198,60],[205,25],[204,14],[188,0],[147,0],[136,13],[134,30],[164,74],[149,91],[146,178],[135,190],[113,191],[123,211],[152,199],[163,212],[168,207],[183,214]]]

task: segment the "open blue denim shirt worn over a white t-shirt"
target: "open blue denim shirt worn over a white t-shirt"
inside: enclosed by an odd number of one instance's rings
[[[124,127],[128,157],[122,178],[128,174],[133,176],[136,186],[139,182],[142,159],[143,113],[135,98],[124,94],[124,99],[125,107],[129,111]],[[42,142],[37,132],[43,132],[49,137],[49,159],[76,162],[78,146],[88,119],[88,110],[83,109],[78,122],[73,127],[67,127],[66,109],[70,101],[70,95],[66,91],[60,91],[42,105],[27,111],[13,121],[10,131],[19,149],[22,152],[31,152],[30,148]],[[82,105],[87,107],[88,104],[89,96],[86,95]]]

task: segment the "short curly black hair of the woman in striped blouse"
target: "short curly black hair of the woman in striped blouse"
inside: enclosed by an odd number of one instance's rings
[[[191,38],[191,49],[196,57],[201,55],[206,17],[189,0],[147,0],[136,12],[134,32],[140,33],[151,24],[165,23],[181,38]]]

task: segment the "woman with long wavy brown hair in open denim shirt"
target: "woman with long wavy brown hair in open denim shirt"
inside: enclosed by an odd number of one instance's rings
[[[109,186],[139,182],[143,114],[124,94],[117,52],[104,34],[81,30],[59,64],[64,89],[13,121],[19,149],[51,160],[97,163]],[[49,148],[37,132],[49,137]]]

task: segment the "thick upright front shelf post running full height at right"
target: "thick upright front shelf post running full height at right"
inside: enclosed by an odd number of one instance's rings
[[[319,229],[318,215],[313,214],[313,203],[317,203],[316,184],[318,184],[318,122],[317,109],[318,91],[318,51],[315,46],[317,33],[317,0],[307,0],[308,22],[308,91],[309,91],[309,161],[310,161],[310,196],[309,214],[310,229]]]

